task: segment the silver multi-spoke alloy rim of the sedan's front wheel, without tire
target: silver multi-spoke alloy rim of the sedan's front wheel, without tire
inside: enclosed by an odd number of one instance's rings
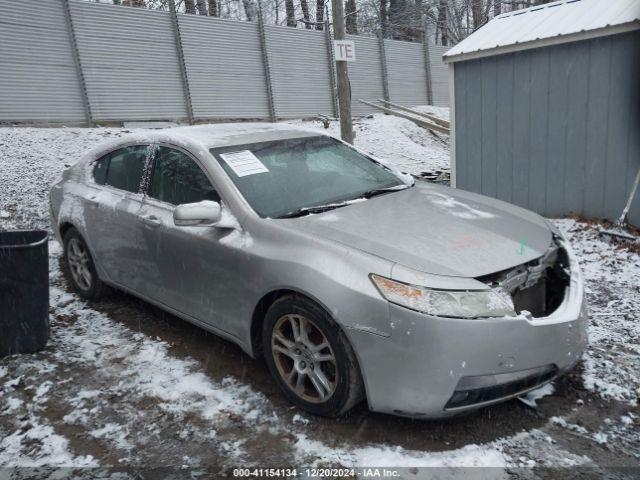
[[[338,384],[336,358],[327,337],[308,318],[284,315],[271,334],[271,352],[279,375],[300,398],[326,402]]]

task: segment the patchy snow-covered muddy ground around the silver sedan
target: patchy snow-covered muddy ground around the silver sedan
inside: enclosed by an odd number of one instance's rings
[[[49,228],[49,185],[81,152],[125,131],[0,128],[0,229]],[[329,131],[338,132],[335,122]],[[411,122],[374,115],[356,131],[359,147],[404,171],[448,168],[446,137]],[[300,413],[235,346],[124,294],[82,301],[52,241],[51,341],[38,354],[0,359],[0,467],[495,467],[492,478],[638,468],[640,256],[588,223],[556,223],[586,278],[590,346],[581,366],[527,404],[439,422],[364,407],[331,421]]]

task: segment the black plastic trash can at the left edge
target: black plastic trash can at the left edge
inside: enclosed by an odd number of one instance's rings
[[[49,339],[49,234],[0,232],[0,357]]]

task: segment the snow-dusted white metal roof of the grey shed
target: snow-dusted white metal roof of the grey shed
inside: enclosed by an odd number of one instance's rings
[[[562,0],[498,15],[443,57],[457,62],[639,28],[638,0]]]

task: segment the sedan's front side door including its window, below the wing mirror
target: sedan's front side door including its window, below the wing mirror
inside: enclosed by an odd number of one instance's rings
[[[147,263],[154,266],[146,295],[179,312],[226,330],[216,305],[226,296],[230,254],[221,238],[228,229],[177,227],[176,206],[202,200],[220,202],[211,181],[194,157],[168,145],[156,149],[153,170],[140,210]]]

